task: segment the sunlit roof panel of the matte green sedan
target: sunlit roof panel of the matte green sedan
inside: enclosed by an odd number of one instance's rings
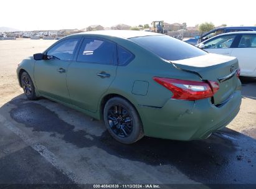
[[[82,32],[79,34],[73,35],[97,35],[97,36],[111,36],[111,37],[119,37],[123,39],[129,39],[133,37],[143,37],[150,35],[163,35],[154,32],[145,32],[145,31],[137,31],[137,30],[98,30],[92,32]]]

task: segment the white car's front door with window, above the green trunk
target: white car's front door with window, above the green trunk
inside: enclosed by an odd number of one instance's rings
[[[232,52],[232,44],[237,35],[220,35],[204,43],[204,50],[211,53],[229,56]]]

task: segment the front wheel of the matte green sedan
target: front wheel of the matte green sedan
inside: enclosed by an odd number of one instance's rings
[[[23,88],[23,91],[27,99],[30,99],[30,100],[37,99],[34,83],[26,71],[24,71],[21,74],[20,80],[21,80],[21,86]]]

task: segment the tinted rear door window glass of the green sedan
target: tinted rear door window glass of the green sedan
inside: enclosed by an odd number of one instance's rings
[[[86,38],[78,53],[77,61],[88,63],[113,64],[115,44],[100,40]]]

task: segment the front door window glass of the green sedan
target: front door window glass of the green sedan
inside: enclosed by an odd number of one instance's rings
[[[78,41],[77,38],[62,40],[48,50],[47,56],[52,56],[51,59],[55,60],[72,60]]]

